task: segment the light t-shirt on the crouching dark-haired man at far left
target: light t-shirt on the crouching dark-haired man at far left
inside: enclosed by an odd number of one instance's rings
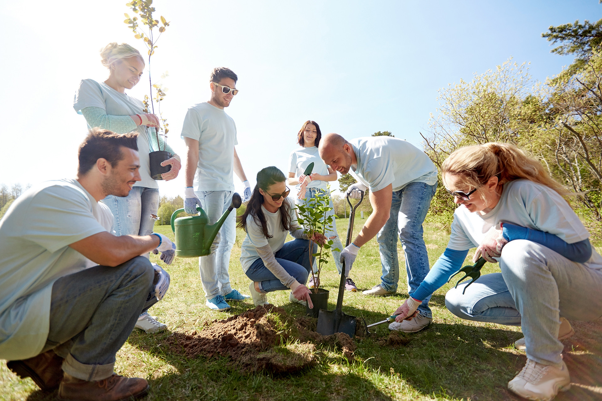
[[[76,180],[47,181],[23,192],[0,220],[0,358],[40,353],[52,284],[88,267],[69,244],[106,230],[95,217],[101,207]]]

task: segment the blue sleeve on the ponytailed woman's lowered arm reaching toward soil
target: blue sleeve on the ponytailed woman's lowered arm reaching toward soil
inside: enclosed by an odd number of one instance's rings
[[[460,270],[462,263],[468,255],[468,249],[465,251],[455,251],[450,248],[445,248],[444,253],[439,256],[435,265],[430,269],[423,282],[417,290],[410,294],[414,299],[423,301],[424,298],[431,295],[447,283],[447,280],[452,275]]]

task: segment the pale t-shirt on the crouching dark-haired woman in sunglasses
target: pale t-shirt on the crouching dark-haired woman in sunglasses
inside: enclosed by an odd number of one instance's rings
[[[289,198],[285,198],[285,202],[290,207],[291,215],[291,229],[290,231],[297,230],[299,224],[297,223],[297,216],[295,215],[295,205]],[[258,225],[253,219],[253,216],[247,216],[247,236],[244,237],[243,245],[240,253],[240,263],[243,266],[243,272],[259,259],[259,254],[255,248],[261,248],[265,245],[270,245],[272,252],[276,253],[282,248],[284,242],[287,240],[287,234],[290,231],[283,231],[281,227],[282,218],[280,216],[280,210],[276,210],[276,213],[270,213],[261,206],[262,212],[264,212],[265,222],[267,224],[267,232],[272,238],[264,237],[261,225]]]

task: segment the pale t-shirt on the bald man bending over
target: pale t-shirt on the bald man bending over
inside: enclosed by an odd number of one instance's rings
[[[349,173],[372,192],[389,184],[395,192],[411,182],[437,182],[437,168],[429,156],[410,142],[392,136],[368,136],[349,143],[358,159],[358,167],[355,171],[350,168]]]

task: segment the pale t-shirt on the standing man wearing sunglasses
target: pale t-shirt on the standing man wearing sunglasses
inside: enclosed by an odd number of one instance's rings
[[[199,141],[194,191],[234,191],[236,124],[224,109],[207,102],[188,109],[182,139]]]

